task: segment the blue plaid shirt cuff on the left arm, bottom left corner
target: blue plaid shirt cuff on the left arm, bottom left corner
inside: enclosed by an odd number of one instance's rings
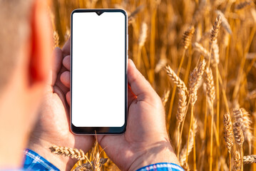
[[[41,157],[41,155],[29,149],[25,150],[24,170],[60,171],[51,164],[51,162],[48,162],[45,158]]]

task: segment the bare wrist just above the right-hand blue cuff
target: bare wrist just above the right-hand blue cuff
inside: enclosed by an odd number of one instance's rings
[[[157,146],[141,152],[130,165],[128,170],[138,170],[141,167],[159,162],[171,162],[176,165],[180,165],[175,153],[173,152],[173,148],[170,145],[162,147]]]

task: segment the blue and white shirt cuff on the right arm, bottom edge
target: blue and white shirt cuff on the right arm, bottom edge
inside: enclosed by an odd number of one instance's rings
[[[145,167],[141,167],[137,171],[184,171],[182,167],[179,165],[175,165],[170,162],[159,162],[153,165],[148,165]]]

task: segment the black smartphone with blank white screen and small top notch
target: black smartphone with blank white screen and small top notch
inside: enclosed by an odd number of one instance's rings
[[[122,134],[127,119],[128,24],[123,9],[71,14],[71,131]]]

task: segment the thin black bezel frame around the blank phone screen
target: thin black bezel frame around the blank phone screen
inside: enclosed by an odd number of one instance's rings
[[[122,127],[76,127],[72,124],[72,67],[73,67],[73,14],[75,13],[87,13],[87,12],[95,12],[96,14],[103,14],[104,12],[121,12],[125,16],[125,123]],[[71,13],[71,105],[70,105],[70,129],[73,134],[78,135],[102,135],[102,134],[122,134],[126,132],[126,124],[127,124],[127,115],[128,115],[128,99],[127,99],[127,60],[128,60],[128,17],[126,11],[123,9],[75,9]]]

